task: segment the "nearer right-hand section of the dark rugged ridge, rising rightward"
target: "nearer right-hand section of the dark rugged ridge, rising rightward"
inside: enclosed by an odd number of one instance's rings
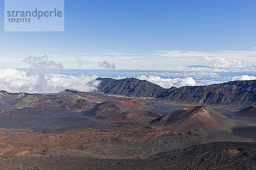
[[[226,105],[256,100],[256,80],[232,81],[204,86],[173,88],[163,96],[167,101]]]

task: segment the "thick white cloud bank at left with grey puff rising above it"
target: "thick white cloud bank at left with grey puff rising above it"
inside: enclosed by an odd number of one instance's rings
[[[97,76],[67,76],[47,74],[46,71],[62,69],[61,62],[55,62],[49,56],[29,56],[23,60],[29,65],[28,72],[13,68],[0,69],[0,89],[8,92],[58,93],[64,89],[94,91],[99,85],[94,81]]]

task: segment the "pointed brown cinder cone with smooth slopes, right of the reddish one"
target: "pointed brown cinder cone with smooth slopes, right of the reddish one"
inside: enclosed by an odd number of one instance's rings
[[[167,113],[151,121],[151,124],[168,126],[173,132],[190,130],[228,130],[234,126],[233,120],[207,106],[191,106]]]

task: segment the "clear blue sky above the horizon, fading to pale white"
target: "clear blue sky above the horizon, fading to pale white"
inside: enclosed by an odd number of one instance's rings
[[[0,67],[47,54],[64,68],[255,69],[255,0],[65,0],[64,32],[5,32],[0,6]]]

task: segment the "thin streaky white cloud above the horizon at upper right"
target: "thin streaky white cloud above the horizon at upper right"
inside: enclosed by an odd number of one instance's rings
[[[152,55],[159,60],[172,59],[173,64],[181,66],[207,65],[225,71],[256,71],[256,48],[244,51],[155,51]]]

